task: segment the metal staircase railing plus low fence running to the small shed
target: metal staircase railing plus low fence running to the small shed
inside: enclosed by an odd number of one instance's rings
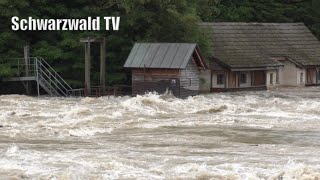
[[[99,97],[99,96],[131,96],[132,88],[127,85],[114,86],[92,86],[90,92],[88,88],[72,89],[71,86],[41,57],[12,58],[9,63],[15,69],[18,77],[32,77],[38,86],[41,86],[51,96],[65,97]]]

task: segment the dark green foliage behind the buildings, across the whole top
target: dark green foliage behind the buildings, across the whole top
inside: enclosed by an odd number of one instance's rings
[[[7,59],[23,57],[31,45],[32,56],[44,57],[74,87],[84,78],[84,46],[80,37],[107,38],[107,84],[128,84],[122,68],[134,42],[196,42],[210,54],[210,41],[200,21],[304,22],[320,37],[318,0],[1,0],[0,77],[14,70]],[[119,31],[17,31],[11,17],[87,18],[121,16]],[[92,48],[93,82],[98,82],[99,48]]]

